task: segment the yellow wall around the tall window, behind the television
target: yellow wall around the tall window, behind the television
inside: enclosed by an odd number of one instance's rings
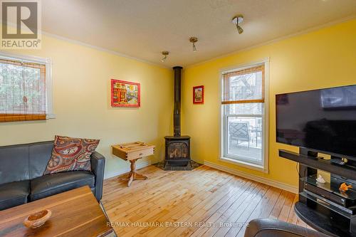
[[[239,43],[237,36],[236,43]],[[269,174],[264,174],[219,160],[219,71],[268,57]],[[298,149],[275,142],[275,95],[356,84],[355,71],[355,19],[186,68],[182,80],[182,132],[192,136],[192,158],[297,186],[295,162],[278,157],[280,148]],[[204,85],[204,105],[192,103],[195,85]]]

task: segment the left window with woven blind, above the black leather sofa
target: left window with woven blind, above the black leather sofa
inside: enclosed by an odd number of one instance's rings
[[[0,122],[49,117],[51,80],[48,78],[51,74],[48,65],[48,60],[0,55]]]

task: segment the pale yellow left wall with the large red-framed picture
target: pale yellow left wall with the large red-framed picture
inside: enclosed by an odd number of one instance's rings
[[[111,144],[151,142],[157,149],[150,159],[162,159],[164,136],[172,134],[171,69],[46,35],[41,50],[8,53],[51,58],[56,118],[2,122],[0,146],[51,140],[54,135],[101,139],[97,151],[107,158],[106,177],[128,167],[111,155]],[[141,83],[141,107],[110,107],[111,78]]]

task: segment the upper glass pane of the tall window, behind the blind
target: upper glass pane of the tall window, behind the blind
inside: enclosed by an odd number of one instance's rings
[[[258,100],[262,95],[262,72],[231,76],[229,100]]]

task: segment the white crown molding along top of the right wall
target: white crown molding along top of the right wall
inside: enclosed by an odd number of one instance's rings
[[[343,22],[346,22],[346,21],[351,21],[352,19],[356,19],[356,15],[351,15],[351,16],[347,16],[345,18],[342,18],[342,19],[338,19],[336,21],[330,21],[328,23],[324,23],[322,25],[319,25],[319,26],[313,26],[313,27],[310,27],[310,28],[307,28],[305,30],[302,30],[302,31],[298,31],[296,33],[291,33],[287,36],[281,36],[281,37],[278,37],[278,38],[274,38],[273,40],[271,41],[266,41],[266,42],[263,42],[263,43],[258,43],[256,45],[253,45],[253,46],[248,46],[246,48],[241,48],[237,51],[233,51],[231,53],[225,53],[225,54],[222,54],[221,56],[217,56],[217,57],[214,57],[214,58],[210,58],[208,60],[203,60],[199,63],[192,63],[192,64],[189,64],[189,65],[185,65],[184,68],[192,68],[194,66],[197,66],[197,65],[201,65],[201,64],[204,64],[204,63],[208,63],[208,62],[211,62],[211,61],[214,61],[214,60],[217,60],[217,59],[220,59],[220,58],[225,58],[227,56],[232,56],[234,54],[237,54],[237,53],[241,53],[241,52],[244,52],[244,51],[249,51],[253,48],[258,48],[258,47],[261,47],[261,46],[267,46],[269,44],[272,44],[272,43],[277,43],[279,41],[283,41],[283,40],[286,40],[288,38],[293,38],[295,36],[300,36],[300,35],[303,35],[305,33],[310,33],[310,32],[313,32],[313,31],[318,31],[322,28],[327,28],[328,26],[335,26],[337,25],[338,23],[343,23]]]

